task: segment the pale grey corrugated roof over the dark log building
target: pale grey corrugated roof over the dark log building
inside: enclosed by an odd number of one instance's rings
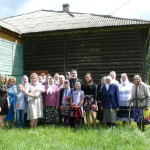
[[[73,16],[62,11],[39,10],[5,18],[2,21],[15,27],[21,34],[95,27],[150,25],[150,21],[138,19],[74,12],[71,14]]]

